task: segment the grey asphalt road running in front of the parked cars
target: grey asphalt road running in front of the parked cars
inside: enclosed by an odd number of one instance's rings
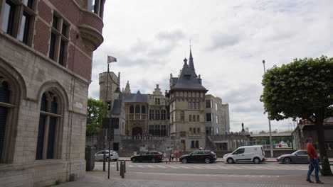
[[[107,166],[107,165],[106,165]],[[306,174],[307,164],[279,164],[267,162],[261,164],[181,164],[181,163],[142,163],[126,162],[126,169],[135,173],[163,174],[205,174],[205,175],[240,175],[240,176],[285,176]],[[102,171],[102,162],[95,162],[95,170]],[[111,162],[111,171],[116,170],[116,163]]]

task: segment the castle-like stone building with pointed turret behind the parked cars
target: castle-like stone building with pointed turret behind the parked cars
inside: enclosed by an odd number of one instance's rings
[[[129,81],[120,94],[120,74],[100,74],[100,100],[110,103],[109,117],[119,120],[112,149],[162,149],[167,146],[182,150],[206,147],[208,135],[229,132],[228,104],[207,93],[201,76],[196,74],[190,50],[178,77],[170,74],[169,91],[156,85],[152,94],[132,93]],[[108,82],[107,82],[108,81]]]

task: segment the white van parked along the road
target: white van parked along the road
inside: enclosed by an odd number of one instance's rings
[[[234,152],[223,156],[224,162],[233,164],[234,162],[254,162],[259,164],[266,160],[265,151],[262,145],[238,147]]]

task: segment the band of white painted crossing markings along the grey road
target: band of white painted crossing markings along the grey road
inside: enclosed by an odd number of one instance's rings
[[[97,167],[102,165],[98,164]],[[112,167],[115,167],[115,163],[111,164]],[[147,169],[226,169],[226,170],[303,170],[307,171],[309,169],[308,165],[281,165],[281,164],[246,164],[246,165],[239,165],[239,164],[164,164],[164,163],[157,163],[157,164],[150,164],[150,163],[132,163],[127,162],[126,166],[128,168],[147,168]]]

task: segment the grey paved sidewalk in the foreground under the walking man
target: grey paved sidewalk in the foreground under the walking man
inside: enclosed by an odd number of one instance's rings
[[[107,172],[89,171],[84,179],[67,182],[60,187],[301,187],[301,186],[333,186],[333,176],[320,176],[324,184],[308,183],[306,174],[293,176],[250,176],[231,174],[172,174],[172,173],[148,173],[127,172],[122,179],[119,172],[112,171],[111,179],[107,179]]]

